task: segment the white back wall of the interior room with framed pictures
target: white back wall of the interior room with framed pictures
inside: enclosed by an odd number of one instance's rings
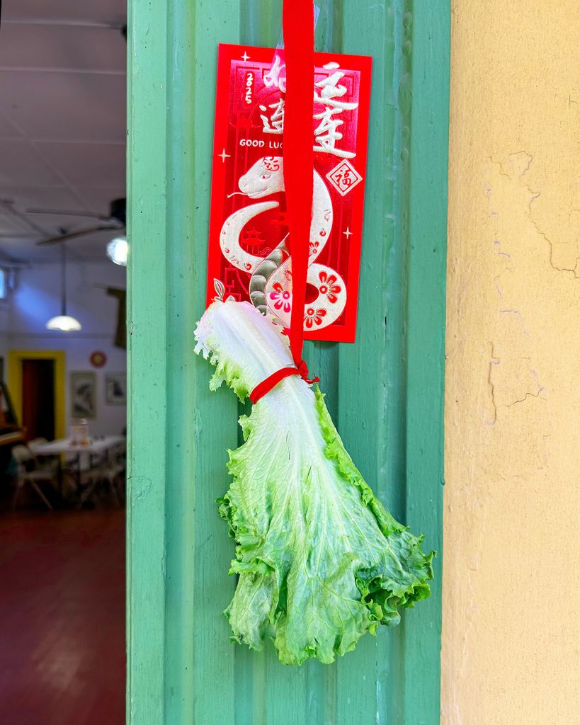
[[[17,271],[17,285],[9,300],[0,304],[0,355],[8,377],[11,349],[64,350],[67,360],[67,431],[70,425],[69,373],[94,370],[97,378],[96,418],[88,421],[92,435],[120,434],[125,428],[126,407],[108,405],[105,374],[126,371],[125,350],[115,347],[117,299],[107,287],[125,289],[125,268],[112,262],[69,262],[67,264],[67,312],[77,318],[80,332],[46,329],[46,321],[60,314],[60,265],[37,264]],[[103,368],[93,368],[92,352],[107,355]],[[7,379],[8,387],[10,381]]]

